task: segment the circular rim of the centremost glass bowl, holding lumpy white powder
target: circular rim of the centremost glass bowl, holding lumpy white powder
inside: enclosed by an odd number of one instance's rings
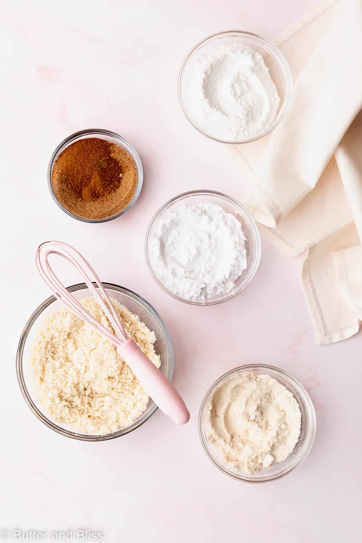
[[[184,199],[187,199],[187,198],[192,197],[192,196],[202,196],[202,195],[215,196],[215,197],[221,198],[223,200],[226,200],[229,203],[239,207],[243,212],[242,214],[244,214],[247,217],[247,219],[249,220],[250,225],[251,225],[251,229],[252,229],[253,234],[255,235],[255,239],[256,239],[256,247],[255,247],[256,258],[255,258],[255,262],[253,264],[253,270],[252,270],[252,273],[251,273],[251,275],[249,277],[249,280],[242,286],[242,288],[240,288],[234,294],[226,296],[226,298],[223,298],[221,300],[215,300],[215,301],[209,301],[209,302],[205,301],[205,300],[201,300],[201,301],[185,300],[183,298],[180,298],[179,296],[176,296],[172,292],[170,292],[157,279],[157,277],[156,277],[156,275],[155,275],[155,273],[154,273],[154,271],[152,269],[152,266],[151,266],[151,263],[150,263],[150,258],[149,258],[149,252],[148,252],[148,243],[149,243],[151,229],[153,228],[154,224],[156,223],[156,220],[161,216],[161,214],[164,211],[166,211],[170,206],[175,204],[177,201],[184,200]],[[195,190],[195,191],[182,192],[181,194],[178,194],[174,198],[171,198],[170,200],[168,200],[165,204],[163,204],[160,207],[160,209],[158,209],[156,211],[156,213],[154,214],[154,216],[151,219],[151,221],[150,221],[150,223],[148,225],[148,228],[147,228],[147,232],[146,232],[146,236],[145,236],[145,240],[144,240],[144,253],[145,253],[145,259],[146,259],[147,266],[148,266],[148,269],[150,271],[150,274],[153,276],[153,278],[156,281],[157,285],[159,287],[161,287],[164,292],[166,292],[167,294],[172,296],[172,298],[174,298],[175,300],[179,300],[181,302],[184,302],[185,304],[196,305],[196,306],[211,306],[211,305],[221,304],[223,302],[231,300],[232,298],[234,298],[235,296],[240,294],[240,292],[244,291],[244,289],[251,283],[251,281],[254,279],[254,277],[255,277],[255,275],[256,275],[256,273],[258,271],[259,264],[260,264],[260,261],[261,261],[262,242],[261,242],[261,237],[260,237],[259,230],[257,228],[256,222],[252,218],[249,211],[247,211],[247,209],[243,206],[243,204],[240,204],[240,202],[238,200],[236,200],[235,198],[232,198],[231,196],[229,196],[228,194],[225,194],[223,192],[211,191],[211,190],[208,190],[208,189],[204,189],[204,190],[199,189],[199,190]]]

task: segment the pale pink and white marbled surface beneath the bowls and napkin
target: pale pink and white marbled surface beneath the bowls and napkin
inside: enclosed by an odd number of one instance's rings
[[[1,12],[3,182],[2,529],[87,528],[106,541],[356,541],[360,458],[359,335],[319,348],[300,287],[300,258],[263,242],[258,274],[226,304],[181,304],[157,287],[143,255],[154,212],[196,188],[241,199],[236,162],[186,121],[176,80],[183,56],[214,31],[240,28],[272,38],[313,0],[193,2],[13,2]],[[77,222],[50,198],[46,171],[74,131],[106,128],[137,148],[144,187],[134,208],[110,223]],[[174,383],[191,419],[177,427],[157,412],[136,432],[105,443],[66,439],[23,401],[15,351],[24,323],[48,296],[35,247],[63,239],[105,281],[144,296],[166,321]],[[78,281],[70,270],[68,284]],[[202,451],[202,397],[225,371],[276,365],[307,388],[317,434],[307,460],[266,485],[224,476]],[[359,431],[356,432],[357,428]]]

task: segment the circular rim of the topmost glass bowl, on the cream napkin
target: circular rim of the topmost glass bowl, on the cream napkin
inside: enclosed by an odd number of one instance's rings
[[[185,70],[185,67],[187,65],[187,62],[190,59],[190,57],[193,55],[193,53],[197,49],[199,49],[207,41],[212,41],[212,40],[217,39],[219,37],[227,37],[227,36],[232,37],[233,35],[246,36],[246,37],[250,37],[251,39],[256,39],[256,40],[261,41],[262,44],[264,45],[264,47],[269,50],[270,54],[272,54],[274,59],[277,59],[278,64],[281,67],[281,71],[283,73],[283,78],[284,78],[284,81],[285,81],[285,96],[284,96],[284,99],[283,99],[281,110],[278,113],[278,116],[276,117],[274,122],[270,125],[270,127],[267,130],[265,130],[264,132],[262,132],[262,134],[259,134],[258,136],[250,138],[249,140],[237,140],[237,141],[221,140],[220,138],[218,138],[216,136],[212,136],[211,134],[207,134],[207,132],[205,132],[204,130],[199,128],[193,122],[192,118],[188,115],[185,104],[183,103],[183,100],[182,100],[181,79],[182,79],[183,71]],[[259,36],[258,34],[253,34],[252,32],[247,32],[246,30],[221,30],[220,32],[216,32],[214,34],[209,34],[208,36],[206,36],[204,39],[202,39],[201,41],[196,43],[196,45],[192,49],[189,50],[189,52],[185,56],[185,59],[183,59],[183,62],[181,64],[181,68],[180,68],[180,71],[179,71],[179,77],[177,78],[177,94],[179,96],[179,102],[180,102],[180,105],[181,105],[181,109],[182,109],[184,115],[186,116],[187,120],[190,122],[190,124],[192,124],[193,127],[196,128],[196,130],[198,130],[201,134],[204,134],[204,136],[207,136],[211,140],[218,141],[220,143],[226,143],[226,144],[229,144],[229,145],[239,145],[239,144],[242,144],[242,143],[250,143],[252,141],[259,140],[259,138],[261,138],[263,136],[266,136],[272,130],[274,130],[282,122],[283,118],[285,117],[285,113],[287,113],[287,110],[288,110],[290,102],[291,102],[291,90],[292,90],[292,87],[293,87],[293,78],[291,77],[290,67],[289,67],[289,64],[287,62],[287,59],[285,59],[285,56],[281,53],[281,51],[271,41],[266,40],[264,37]]]

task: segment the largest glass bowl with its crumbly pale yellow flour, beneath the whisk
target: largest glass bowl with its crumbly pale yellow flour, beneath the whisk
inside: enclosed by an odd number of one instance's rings
[[[129,337],[171,380],[172,344],[160,315],[141,296],[103,283]],[[112,326],[89,289],[68,288],[110,331]],[[157,406],[115,345],[51,296],[31,315],[17,352],[18,381],[31,411],[52,430],[99,441],[143,424]]]

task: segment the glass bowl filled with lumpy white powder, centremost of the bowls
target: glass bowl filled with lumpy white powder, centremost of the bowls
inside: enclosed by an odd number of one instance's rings
[[[261,241],[242,204],[215,191],[190,191],[151,220],[145,256],[158,285],[176,300],[214,305],[242,292],[255,276]]]

